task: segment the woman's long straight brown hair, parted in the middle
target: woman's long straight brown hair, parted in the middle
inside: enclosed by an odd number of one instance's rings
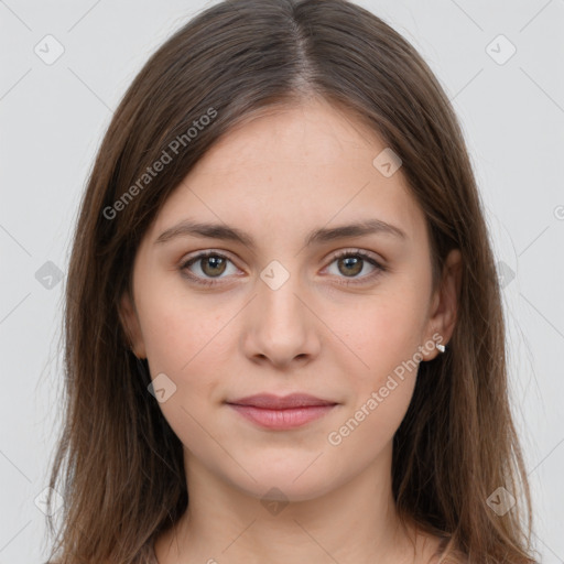
[[[56,562],[139,564],[185,512],[183,446],[139,377],[120,299],[131,292],[143,235],[206,151],[236,126],[312,97],[358,118],[400,155],[426,218],[435,285],[449,250],[462,254],[452,339],[421,362],[393,438],[398,512],[448,540],[452,557],[534,562],[500,288],[460,126],[414,47],[345,0],[217,3],[150,57],[116,110],[68,267],[65,419],[51,470],[64,499],[56,534],[47,519]],[[154,173],[158,161],[166,164]],[[501,486],[518,502],[497,516],[487,499]]]

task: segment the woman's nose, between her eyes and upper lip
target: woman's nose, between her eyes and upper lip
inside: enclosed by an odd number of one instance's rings
[[[311,301],[311,300],[310,300]],[[257,281],[257,295],[246,308],[242,346],[257,364],[278,369],[304,365],[321,350],[319,325],[297,275],[280,286]]]

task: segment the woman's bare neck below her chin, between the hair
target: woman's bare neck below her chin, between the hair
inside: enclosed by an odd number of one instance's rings
[[[221,480],[188,453],[185,467],[188,509],[158,540],[159,564],[415,561],[415,538],[393,502],[391,445],[352,480],[314,499],[278,505]]]

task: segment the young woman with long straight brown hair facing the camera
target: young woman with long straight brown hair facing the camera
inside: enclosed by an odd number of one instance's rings
[[[151,57],[65,321],[54,562],[533,562],[464,139],[368,11],[226,1]]]

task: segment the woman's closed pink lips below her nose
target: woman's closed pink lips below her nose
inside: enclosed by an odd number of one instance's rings
[[[285,397],[258,394],[226,402],[247,420],[262,427],[284,431],[322,417],[337,405],[304,393]]]

